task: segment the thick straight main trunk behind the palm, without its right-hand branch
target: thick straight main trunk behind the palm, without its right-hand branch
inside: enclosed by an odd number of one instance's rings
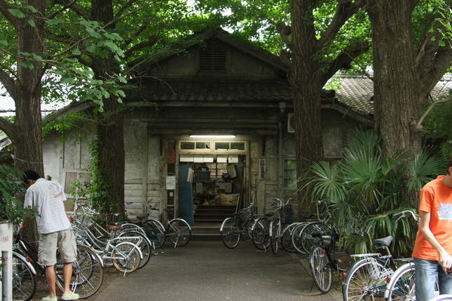
[[[374,41],[374,127],[383,141],[383,157],[398,151],[420,150],[420,116],[411,0],[369,1]],[[407,183],[408,176],[404,181]],[[404,202],[416,205],[417,193],[404,194]]]

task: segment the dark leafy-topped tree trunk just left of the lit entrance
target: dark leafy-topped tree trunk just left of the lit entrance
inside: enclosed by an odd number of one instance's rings
[[[113,3],[111,0],[93,0],[93,20],[110,24],[105,29],[114,29]],[[113,57],[94,59],[93,71],[98,79],[109,78],[110,75],[119,73],[119,64]],[[102,180],[108,181],[107,197],[102,200],[103,211],[124,213],[124,169],[125,150],[123,137],[123,113],[122,104],[117,97],[104,99],[104,113],[100,116],[97,139],[100,147],[98,169],[102,174]],[[107,117],[106,117],[107,116]]]

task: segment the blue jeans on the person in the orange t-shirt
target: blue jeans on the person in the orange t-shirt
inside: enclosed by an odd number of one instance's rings
[[[452,294],[452,276],[444,273],[435,260],[414,258],[416,301],[428,301],[435,296],[435,282],[438,277],[439,293]]]

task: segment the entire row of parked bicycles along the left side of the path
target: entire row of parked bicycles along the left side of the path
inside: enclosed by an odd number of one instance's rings
[[[155,209],[150,209],[155,210]],[[165,209],[164,213],[171,209]],[[101,225],[106,216],[85,204],[75,204],[74,214],[69,216],[76,235],[77,257],[73,262],[70,288],[81,299],[95,294],[102,286],[104,267],[114,267],[123,276],[148,264],[151,255],[164,252],[166,237],[176,246],[185,246],[191,239],[191,228],[186,221],[174,218],[167,221],[140,217],[137,223],[122,221]],[[121,214],[112,214],[121,219]],[[164,226],[166,225],[166,227]],[[24,241],[20,227],[15,231],[13,244],[13,300],[32,300],[36,293],[38,272],[46,281],[45,267],[39,264],[34,244]],[[57,252],[56,283],[64,290],[63,263]]]

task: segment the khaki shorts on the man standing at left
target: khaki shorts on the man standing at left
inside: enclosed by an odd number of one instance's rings
[[[39,239],[39,263],[46,267],[57,263],[57,248],[60,249],[61,262],[76,261],[76,240],[73,230],[62,230],[41,234]]]

